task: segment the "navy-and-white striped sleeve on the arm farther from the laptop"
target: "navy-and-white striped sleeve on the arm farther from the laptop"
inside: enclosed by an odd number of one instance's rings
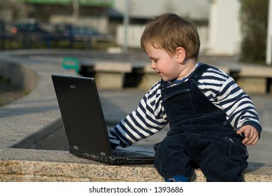
[[[208,69],[198,86],[215,106],[224,110],[227,120],[236,130],[243,125],[252,125],[259,133],[262,131],[249,95],[227,73],[216,68]]]

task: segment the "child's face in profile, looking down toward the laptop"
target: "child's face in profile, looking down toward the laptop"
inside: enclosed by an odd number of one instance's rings
[[[176,55],[169,55],[165,50],[154,48],[152,45],[146,50],[151,59],[150,67],[154,69],[165,82],[179,78],[182,66]]]

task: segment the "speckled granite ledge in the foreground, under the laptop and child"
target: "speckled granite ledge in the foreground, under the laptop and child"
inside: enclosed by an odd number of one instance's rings
[[[247,182],[271,182],[272,165],[250,163]],[[0,181],[163,181],[153,165],[106,165],[71,155],[68,151],[7,148],[0,151]],[[196,169],[192,181],[205,182]]]

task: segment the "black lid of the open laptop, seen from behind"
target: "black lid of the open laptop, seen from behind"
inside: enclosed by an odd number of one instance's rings
[[[94,78],[52,75],[70,148],[112,155]]]

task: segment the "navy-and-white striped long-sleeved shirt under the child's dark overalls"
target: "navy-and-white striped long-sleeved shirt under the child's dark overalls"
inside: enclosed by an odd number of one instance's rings
[[[160,80],[155,83],[141,99],[138,108],[110,130],[110,143],[113,148],[130,146],[159,132],[168,124],[160,83]],[[169,87],[173,85],[176,83],[171,83]],[[199,78],[197,85],[210,102],[227,114],[228,122],[236,130],[243,125],[252,125],[259,133],[262,131],[252,100],[227,73],[210,67]]]

